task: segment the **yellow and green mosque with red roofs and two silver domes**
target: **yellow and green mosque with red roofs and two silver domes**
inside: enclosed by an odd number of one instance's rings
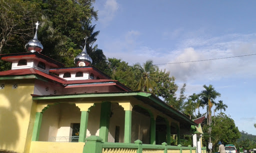
[[[192,134],[193,147],[200,146],[200,126],[152,93],[111,80],[93,67],[85,45],[74,58],[76,67],[41,54],[37,26],[28,52],[0,55],[11,63],[0,72],[0,152],[92,153],[85,148],[89,138],[169,146],[173,135],[179,144],[180,135]]]

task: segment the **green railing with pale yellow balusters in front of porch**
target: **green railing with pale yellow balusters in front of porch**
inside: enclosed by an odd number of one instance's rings
[[[136,140],[134,144],[127,143],[106,143],[98,136],[90,136],[85,139],[86,143],[83,153],[196,153],[196,148],[178,146],[167,146],[166,143],[161,145],[142,144]],[[202,153],[206,147],[202,147]]]

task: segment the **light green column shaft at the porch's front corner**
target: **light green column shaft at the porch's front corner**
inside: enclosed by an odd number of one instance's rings
[[[130,143],[130,140],[131,140],[131,111],[125,111],[124,143]]]

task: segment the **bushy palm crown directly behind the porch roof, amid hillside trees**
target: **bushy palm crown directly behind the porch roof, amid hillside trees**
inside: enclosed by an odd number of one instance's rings
[[[135,85],[134,88],[137,90],[153,92],[153,86],[156,84],[151,77],[154,75],[154,72],[158,69],[157,66],[153,65],[152,60],[147,60],[143,67],[140,64],[135,64],[134,68],[139,70],[139,80],[138,83]]]

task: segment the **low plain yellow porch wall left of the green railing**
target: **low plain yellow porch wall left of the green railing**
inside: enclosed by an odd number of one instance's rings
[[[31,142],[29,153],[82,153],[84,143]]]

